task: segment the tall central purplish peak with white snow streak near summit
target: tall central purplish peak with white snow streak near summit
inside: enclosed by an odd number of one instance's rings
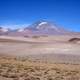
[[[65,30],[64,28],[59,27],[58,25],[45,21],[45,20],[40,20],[32,25],[26,27],[24,30],[31,30],[33,33],[37,34],[62,34],[62,33],[67,33],[68,31]]]

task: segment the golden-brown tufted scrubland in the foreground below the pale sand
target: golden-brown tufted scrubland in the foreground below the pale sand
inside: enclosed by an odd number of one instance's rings
[[[80,80],[80,65],[0,57],[0,80]]]

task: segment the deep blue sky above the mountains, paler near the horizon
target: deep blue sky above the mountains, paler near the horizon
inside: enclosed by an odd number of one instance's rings
[[[19,28],[39,19],[80,31],[80,0],[0,0],[0,26]]]

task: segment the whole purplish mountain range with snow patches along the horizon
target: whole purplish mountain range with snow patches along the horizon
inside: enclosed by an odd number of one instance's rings
[[[0,27],[0,35],[7,36],[27,36],[27,35],[60,35],[60,34],[73,34],[74,32],[70,32],[63,27],[58,26],[57,24],[46,21],[39,20],[34,22],[29,26],[25,26],[22,29],[4,29]],[[77,34],[77,33],[75,33]]]

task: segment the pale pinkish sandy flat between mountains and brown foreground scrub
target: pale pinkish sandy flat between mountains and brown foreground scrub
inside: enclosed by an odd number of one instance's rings
[[[74,36],[48,36],[40,38],[0,37],[0,54],[31,57],[59,63],[80,63],[80,44],[69,43]],[[79,37],[79,36],[78,36]]]

